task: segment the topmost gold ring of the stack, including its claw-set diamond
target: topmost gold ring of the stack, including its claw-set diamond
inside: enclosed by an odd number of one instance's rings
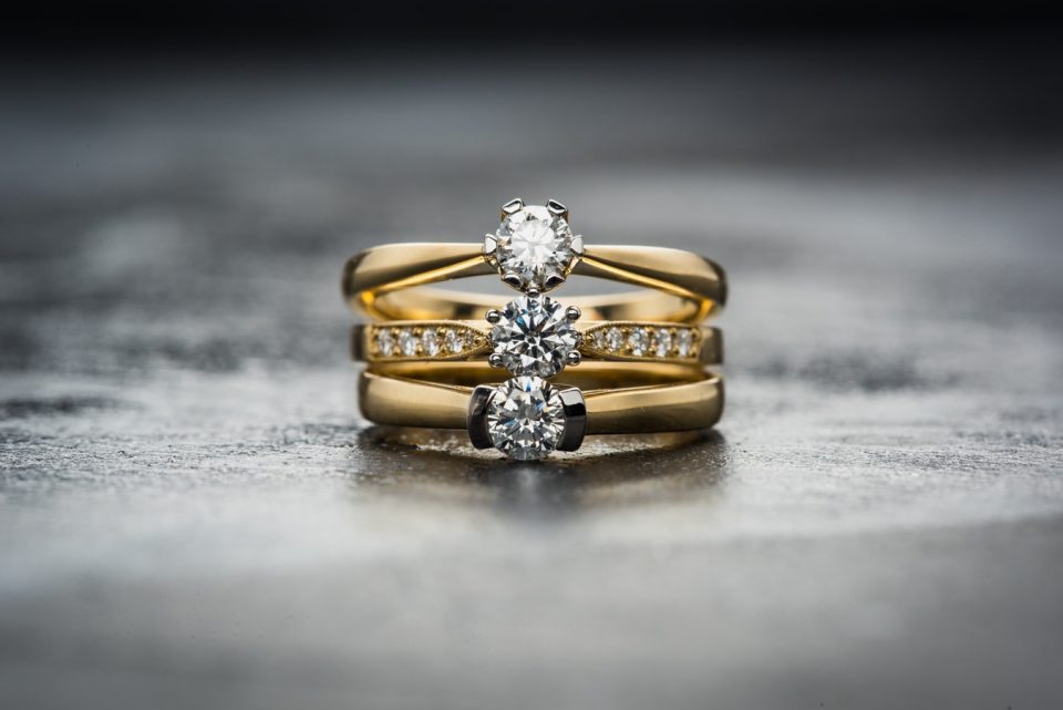
[[[551,199],[502,207],[502,224],[479,244],[410,243],[368,249],[343,269],[343,297],[381,320],[468,320],[494,299],[443,291],[429,284],[498,274],[525,294],[550,291],[570,275],[631,284],[656,292],[569,299],[591,320],[695,323],[714,315],[727,296],[723,269],[705,257],[664,247],[585,244],[572,234],[568,208]]]

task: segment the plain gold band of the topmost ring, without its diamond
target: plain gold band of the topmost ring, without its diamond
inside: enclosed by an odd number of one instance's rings
[[[477,244],[392,244],[351,257],[343,269],[348,305],[380,320],[471,320],[498,298],[426,288],[451,279],[496,274]],[[726,301],[715,263],[663,247],[588,246],[571,274],[632,284],[657,292],[566,298],[588,320],[695,323]]]

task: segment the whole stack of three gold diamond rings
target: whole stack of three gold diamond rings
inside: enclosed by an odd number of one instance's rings
[[[504,306],[431,284],[498,274]],[[572,276],[649,289],[546,296]],[[518,460],[574,451],[585,434],[706,429],[723,411],[722,333],[701,322],[726,300],[713,261],[678,249],[585,245],[556,200],[502,207],[482,244],[398,244],[352,257],[351,353],[367,363],[362,414],[380,424],[465,428]],[[483,320],[479,320],[483,319]],[[579,370],[572,370],[580,366]],[[495,372],[509,371],[498,383]]]

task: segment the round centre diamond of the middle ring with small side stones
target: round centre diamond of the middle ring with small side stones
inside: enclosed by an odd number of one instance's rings
[[[565,369],[579,347],[579,332],[565,307],[547,296],[520,296],[499,311],[491,341],[502,363],[514,374],[548,378]]]

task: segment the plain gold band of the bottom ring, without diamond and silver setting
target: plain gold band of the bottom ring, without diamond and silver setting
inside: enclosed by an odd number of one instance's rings
[[[556,383],[584,388],[586,433],[693,431],[720,421],[724,400],[720,375],[665,363],[627,366],[581,368],[578,374],[566,371]],[[497,371],[479,363],[395,363],[388,372],[376,368],[362,372],[359,403],[365,419],[392,426],[465,429],[473,385],[499,379]],[[432,381],[412,379],[427,373]],[[658,383],[605,389],[619,381]]]

